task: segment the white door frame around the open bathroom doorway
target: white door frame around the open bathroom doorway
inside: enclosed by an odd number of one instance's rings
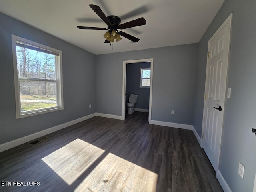
[[[149,109],[148,109],[148,122],[151,122],[151,107],[152,107],[152,84],[153,84],[153,58],[150,59],[137,59],[137,60],[127,60],[123,62],[123,92],[122,92],[122,119],[125,119],[125,90],[126,90],[126,64],[127,63],[142,63],[151,62],[151,77],[150,77],[150,93],[149,93]]]

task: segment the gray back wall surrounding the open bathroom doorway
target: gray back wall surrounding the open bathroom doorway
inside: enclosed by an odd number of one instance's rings
[[[97,112],[121,116],[123,61],[154,58],[152,120],[191,125],[196,54],[197,44],[187,44],[97,55]]]

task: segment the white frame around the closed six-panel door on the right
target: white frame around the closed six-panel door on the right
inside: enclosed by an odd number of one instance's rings
[[[224,21],[224,23],[220,26],[220,28],[218,28],[218,30],[214,33],[214,35],[210,38],[210,40],[212,38],[214,38],[221,30],[222,28],[224,28],[224,26],[226,26],[226,24],[228,24],[228,22],[230,22],[230,25],[229,25],[229,36],[228,36],[228,59],[227,59],[227,62],[228,62],[228,66],[229,66],[229,58],[230,58],[230,37],[231,37],[231,28],[232,28],[232,16],[233,16],[233,13],[230,14],[230,16],[228,16],[228,18]],[[208,41],[208,52],[210,51],[210,40]],[[209,67],[209,59],[207,59],[207,65],[206,65],[206,80],[205,80],[205,88],[204,88],[204,95],[207,94],[206,93],[206,86],[208,86],[208,67]],[[228,73],[228,71],[227,71]],[[227,75],[227,78],[228,78],[228,75]],[[226,82],[227,82],[227,78],[226,78]],[[227,89],[227,84],[226,84],[226,89]],[[225,106],[226,106],[226,89],[225,89],[225,100],[224,100],[224,106],[223,106],[223,113],[225,112]],[[206,116],[206,100],[204,99],[204,112],[203,112],[203,121],[202,121],[202,135],[201,135],[201,138],[204,134],[204,120],[205,120],[205,116]],[[222,127],[221,127],[221,132],[223,130],[223,123],[222,123]],[[219,156],[218,156],[218,168],[217,168],[217,171],[216,171],[216,177],[218,178],[218,172],[219,172],[219,168],[220,168],[220,154],[221,154],[221,146],[222,146],[222,133],[221,133],[221,139],[220,139],[220,153],[219,153]],[[201,140],[201,147],[203,148],[203,139]]]

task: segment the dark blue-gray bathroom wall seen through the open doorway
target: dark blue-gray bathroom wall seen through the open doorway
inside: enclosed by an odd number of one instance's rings
[[[149,88],[140,88],[140,68],[150,68],[151,62],[126,64],[126,103],[129,103],[129,94],[138,95],[134,108],[149,108]]]

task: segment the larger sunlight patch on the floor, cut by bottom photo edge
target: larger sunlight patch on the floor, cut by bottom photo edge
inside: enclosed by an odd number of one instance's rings
[[[155,192],[158,175],[109,153],[74,192]]]

